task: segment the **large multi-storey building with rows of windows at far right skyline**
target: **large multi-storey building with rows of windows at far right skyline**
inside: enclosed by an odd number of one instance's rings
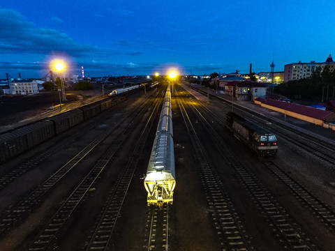
[[[284,82],[311,77],[312,73],[318,67],[321,67],[323,70],[325,66],[330,65],[334,69],[334,63],[331,54],[329,54],[327,60],[323,63],[315,63],[315,61],[311,61],[311,63],[301,63],[301,61],[299,63],[289,63],[284,68]]]

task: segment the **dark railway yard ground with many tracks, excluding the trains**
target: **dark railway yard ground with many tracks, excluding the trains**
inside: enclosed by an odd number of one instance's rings
[[[173,203],[148,206],[166,86],[1,162],[1,251],[335,250],[335,132],[195,98],[184,84],[171,91]],[[231,110],[274,132],[276,158],[258,158],[225,128]]]

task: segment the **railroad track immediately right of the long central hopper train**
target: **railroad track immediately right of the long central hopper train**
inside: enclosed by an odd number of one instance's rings
[[[214,165],[210,162],[208,154],[198,138],[183,103],[178,98],[177,102],[199,162],[202,185],[207,193],[209,208],[211,208],[214,224],[216,225],[216,229],[218,229],[218,238],[221,240],[223,250],[253,250],[249,246],[250,241],[245,236],[244,227],[230,203],[230,199],[223,188],[221,180],[218,178]]]

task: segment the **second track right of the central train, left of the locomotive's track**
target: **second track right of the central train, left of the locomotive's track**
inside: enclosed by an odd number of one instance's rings
[[[234,156],[229,146],[211,127],[211,123],[204,119],[197,107],[192,102],[189,102],[189,105],[198,117],[198,121],[204,124],[207,137],[210,137],[211,142],[215,144],[216,149],[221,153],[225,162],[228,163],[228,166],[237,175],[249,195],[251,195],[260,213],[265,215],[267,220],[271,222],[269,227],[276,232],[276,236],[283,243],[284,248],[290,248],[291,250],[317,250],[315,245],[306,237],[306,234],[297,227],[290,215],[271,195],[271,192],[251,172],[251,169]],[[225,151],[222,151],[222,149],[225,149]]]

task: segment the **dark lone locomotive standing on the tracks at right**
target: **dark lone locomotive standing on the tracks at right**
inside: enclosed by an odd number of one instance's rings
[[[276,157],[278,151],[276,135],[234,112],[227,112],[225,118],[225,128],[246,144],[253,153],[265,158]]]

